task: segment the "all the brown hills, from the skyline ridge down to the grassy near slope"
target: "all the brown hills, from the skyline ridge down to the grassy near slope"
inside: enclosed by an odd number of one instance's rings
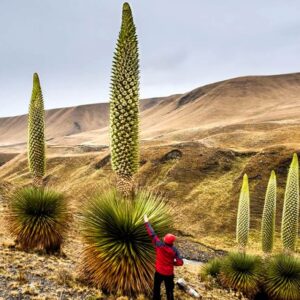
[[[184,95],[144,100],[141,106],[138,182],[166,195],[179,232],[216,247],[232,247],[244,173],[250,182],[251,227],[258,230],[274,169],[279,183],[279,236],[288,166],[292,153],[300,154],[300,73],[230,79]],[[80,206],[112,177],[106,147],[108,105],[50,111],[47,122],[52,139],[46,182],[66,190]],[[74,122],[80,130],[71,131]],[[24,117],[0,120],[0,144],[24,142],[25,125]],[[85,153],[88,148],[80,144],[105,146],[90,147],[89,151],[96,151]],[[24,150],[24,146],[14,148],[0,146],[0,153]],[[24,153],[0,167],[0,190],[4,181],[23,185],[30,180]],[[258,245],[255,231],[253,237]]]

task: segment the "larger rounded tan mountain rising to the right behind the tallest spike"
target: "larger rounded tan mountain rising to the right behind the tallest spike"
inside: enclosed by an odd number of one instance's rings
[[[298,143],[299,124],[297,73],[235,78],[166,98],[143,111],[141,132],[143,139],[159,142],[199,140],[207,145],[245,150]],[[291,132],[293,141],[287,138]],[[107,144],[108,132],[103,127],[53,143]]]

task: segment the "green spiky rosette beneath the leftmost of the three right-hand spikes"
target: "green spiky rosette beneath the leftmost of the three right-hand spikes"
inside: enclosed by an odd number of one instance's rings
[[[230,253],[221,266],[221,283],[252,297],[259,291],[262,279],[261,264],[257,256]]]

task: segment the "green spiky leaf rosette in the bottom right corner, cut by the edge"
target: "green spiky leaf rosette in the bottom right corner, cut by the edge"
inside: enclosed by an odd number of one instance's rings
[[[300,260],[299,258],[278,255],[267,265],[265,290],[270,299],[300,299]]]

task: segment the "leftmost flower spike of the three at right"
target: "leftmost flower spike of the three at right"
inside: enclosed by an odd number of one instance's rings
[[[240,248],[245,249],[248,243],[250,227],[250,196],[248,176],[244,175],[243,185],[239,198],[237,226],[236,226],[236,240]]]

